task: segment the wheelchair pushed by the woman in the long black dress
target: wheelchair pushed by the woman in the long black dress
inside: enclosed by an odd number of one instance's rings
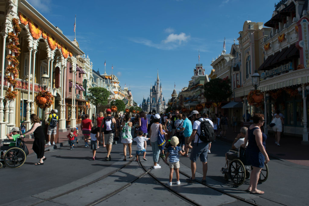
[[[24,141],[16,138],[16,141],[3,140],[0,145],[0,168],[8,166],[18,168],[26,161],[26,153],[21,149]]]

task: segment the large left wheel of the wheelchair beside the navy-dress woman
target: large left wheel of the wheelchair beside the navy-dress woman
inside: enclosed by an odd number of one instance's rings
[[[242,185],[246,179],[245,166],[239,159],[234,159],[229,166],[229,172],[232,182],[236,185]]]

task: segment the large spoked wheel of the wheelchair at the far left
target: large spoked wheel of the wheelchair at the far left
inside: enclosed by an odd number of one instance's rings
[[[25,152],[18,148],[13,147],[8,149],[3,155],[4,164],[8,167],[17,168],[23,165],[26,161]]]

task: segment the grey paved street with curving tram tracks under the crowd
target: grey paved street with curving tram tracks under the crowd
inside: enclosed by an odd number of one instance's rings
[[[36,157],[33,153],[27,158],[26,163],[17,169],[2,168],[0,170],[2,185],[2,205],[29,205],[46,198],[51,198],[46,205],[87,205],[112,202],[121,205],[128,202],[141,201],[141,204],[157,205],[159,197],[160,204],[167,205],[173,201],[175,204],[188,205],[189,202],[176,196],[167,188],[163,187],[168,181],[169,169],[160,160],[161,169],[150,170],[159,182],[145,174],[137,162],[122,161],[122,144],[113,145],[112,161],[105,161],[106,150],[100,148],[97,152],[97,160],[91,160],[91,150],[84,148],[83,144],[77,145],[74,150],[68,146],[54,149],[45,153],[47,160],[43,166],[33,166]],[[133,145],[133,154],[136,145]],[[223,179],[220,169],[225,164],[224,154],[230,148],[229,143],[217,140],[213,143],[211,154],[208,157],[207,184],[221,191],[239,196],[259,205],[306,205],[308,166],[296,165],[291,162],[271,159],[269,162],[269,177],[266,182],[258,185],[264,195],[250,195],[243,192],[248,187],[249,180],[239,187],[234,187],[231,182]],[[152,153],[150,146],[142,165],[148,171],[152,165]],[[180,170],[190,175],[189,158],[182,157]],[[125,166],[125,164],[128,164]],[[122,168],[123,167],[123,168]],[[115,170],[119,170],[116,171]],[[197,179],[201,179],[201,164],[197,163]],[[175,174],[174,174],[175,176]],[[99,179],[101,178],[101,179]],[[181,185],[176,186],[173,179],[174,191],[194,199],[197,204],[205,205],[247,205],[222,192],[215,191],[209,187],[196,184],[188,184],[185,176],[180,175]],[[99,180],[98,180],[99,179]],[[11,184],[14,180],[14,184]],[[91,183],[87,186],[85,184]],[[78,190],[75,190],[75,188]],[[126,187],[123,189],[123,187]],[[61,194],[70,191],[67,194]],[[120,191],[118,191],[120,190]],[[14,191],[12,193],[12,191]],[[115,193],[115,194],[114,194]],[[16,195],[18,194],[18,195]],[[59,195],[61,194],[61,195]],[[55,195],[59,195],[54,197]],[[121,197],[121,198],[119,198]],[[97,201],[98,200],[98,201]],[[150,201],[151,200],[151,201]],[[15,201],[15,202],[14,202]],[[97,202],[96,202],[97,201]]]

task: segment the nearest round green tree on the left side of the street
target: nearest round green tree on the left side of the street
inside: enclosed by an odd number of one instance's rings
[[[103,87],[92,87],[89,88],[87,96],[88,102],[95,105],[96,108],[108,104],[109,91]]]

